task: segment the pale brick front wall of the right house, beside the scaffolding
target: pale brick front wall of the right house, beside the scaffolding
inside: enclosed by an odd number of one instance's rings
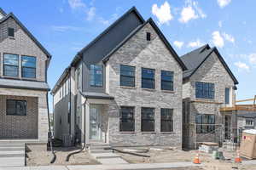
[[[195,98],[195,82],[212,82],[215,84],[215,99],[196,99]],[[183,92],[190,92],[190,95],[183,95],[190,101],[187,101],[189,105],[189,111],[186,115],[189,116],[189,123],[187,125],[188,136],[183,137],[186,139],[186,147],[195,147],[195,114],[213,114],[216,116],[215,123],[216,133],[196,134],[196,142],[221,142],[224,139],[224,119],[220,113],[219,108],[224,104],[225,88],[233,88],[235,86],[228,72],[224,69],[224,66],[219,61],[217,55],[212,53],[211,56],[205,61],[203,65],[195,72],[195,74],[189,78],[189,82],[183,84]],[[235,94],[232,91],[232,98],[234,100]],[[196,102],[201,100],[204,103]],[[210,102],[210,103],[207,103]],[[194,125],[193,125],[194,124]],[[183,141],[184,142],[184,141]]]

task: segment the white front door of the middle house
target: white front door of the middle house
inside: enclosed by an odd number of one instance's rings
[[[90,139],[102,139],[102,105],[90,105]]]

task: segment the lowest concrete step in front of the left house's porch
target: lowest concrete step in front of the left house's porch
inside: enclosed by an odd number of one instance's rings
[[[0,167],[24,167],[24,166],[25,166],[25,156],[0,157]]]

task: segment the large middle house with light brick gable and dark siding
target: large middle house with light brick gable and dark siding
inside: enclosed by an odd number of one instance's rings
[[[181,148],[185,70],[154,20],[131,8],[81,49],[56,82],[55,139]]]

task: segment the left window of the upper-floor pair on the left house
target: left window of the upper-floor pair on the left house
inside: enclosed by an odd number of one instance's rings
[[[3,54],[3,75],[8,77],[19,76],[19,55]]]

